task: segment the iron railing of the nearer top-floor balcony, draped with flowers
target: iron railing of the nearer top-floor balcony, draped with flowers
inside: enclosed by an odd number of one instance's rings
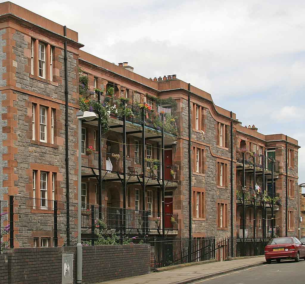
[[[110,115],[112,117],[122,119],[125,109],[130,109],[133,115],[126,116],[126,120],[133,123],[142,124],[142,108],[138,105],[131,104],[128,101],[124,101],[121,98],[114,96],[103,95],[102,92],[90,91],[86,89],[79,89],[80,99],[85,99],[88,106],[91,106],[94,110],[94,103],[101,103],[103,106],[107,106],[110,110]],[[156,130],[161,130],[163,126],[163,116],[158,113],[157,110],[145,110],[144,122],[145,125]],[[173,135],[178,134],[178,128],[176,125],[176,118],[173,116],[165,117],[164,121],[164,131]]]

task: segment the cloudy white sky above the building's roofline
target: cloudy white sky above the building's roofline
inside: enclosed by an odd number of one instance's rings
[[[78,32],[83,50],[146,77],[177,74],[243,125],[305,148],[305,2],[12,0]],[[299,183],[305,182],[299,151]]]

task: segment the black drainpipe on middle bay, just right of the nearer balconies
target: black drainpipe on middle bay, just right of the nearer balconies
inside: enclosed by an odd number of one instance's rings
[[[188,84],[188,91],[191,84]],[[191,238],[192,238],[192,164],[191,164],[191,94],[188,93],[188,261],[191,261]]]

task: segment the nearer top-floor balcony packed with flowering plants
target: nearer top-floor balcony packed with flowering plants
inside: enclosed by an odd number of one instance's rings
[[[125,113],[127,122],[135,125],[141,125],[143,122],[143,111],[140,104],[131,104],[126,101],[125,98],[103,95],[102,92],[89,91],[80,88],[79,101],[81,110],[95,110],[97,106],[102,106],[106,107],[110,118],[122,120]],[[145,127],[160,131],[163,127],[163,114],[161,112],[164,113],[164,109],[160,108],[160,106],[155,110],[145,109]],[[170,109],[164,113],[164,132],[174,136],[178,134],[177,118],[171,114]]]

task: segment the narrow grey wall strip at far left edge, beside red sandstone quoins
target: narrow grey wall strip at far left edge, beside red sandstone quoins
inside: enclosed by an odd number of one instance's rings
[[[6,53],[3,52],[3,47],[6,41],[2,40],[2,35],[6,29],[0,30],[0,87],[6,86],[6,80],[3,79],[3,74],[6,73],[6,67],[3,67],[2,61],[6,59]],[[3,174],[3,168],[7,167],[7,161],[3,161],[2,155],[7,153],[7,147],[3,147],[3,140],[7,139],[7,134],[2,132],[2,128],[7,126],[7,121],[2,120],[2,114],[7,113],[7,107],[2,106],[2,101],[6,99],[6,95],[0,92],[0,199],[8,193],[7,187],[3,187],[3,181],[7,179],[7,174]]]

